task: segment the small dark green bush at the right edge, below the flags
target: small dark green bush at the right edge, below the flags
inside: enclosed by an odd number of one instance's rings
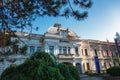
[[[107,73],[111,76],[120,76],[120,66],[115,66],[107,69]]]

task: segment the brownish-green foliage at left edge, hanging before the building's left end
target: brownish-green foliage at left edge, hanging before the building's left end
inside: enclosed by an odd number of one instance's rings
[[[0,32],[0,55],[5,57],[11,54],[26,54],[27,46],[24,45],[19,48],[20,39],[12,40],[11,37],[16,38],[13,34]]]

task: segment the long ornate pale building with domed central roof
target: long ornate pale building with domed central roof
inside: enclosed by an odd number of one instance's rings
[[[81,39],[74,31],[62,28],[60,23],[55,23],[43,35],[23,32],[16,32],[16,35],[22,40],[17,44],[18,48],[27,45],[26,57],[36,51],[46,51],[54,54],[59,63],[77,66],[81,73],[96,72],[95,56],[99,61],[100,72],[104,72],[111,66],[120,65],[113,42]],[[12,38],[13,41],[16,39],[18,38]],[[109,47],[108,44],[110,44]],[[17,58],[17,62],[13,63],[20,64],[26,57],[20,56]],[[10,64],[8,63],[8,65]],[[0,63],[0,65],[2,64]]]

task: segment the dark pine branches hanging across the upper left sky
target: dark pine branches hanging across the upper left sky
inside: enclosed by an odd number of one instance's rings
[[[72,16],[82,20],[88,16],[86,9],[91,5],[91,0],[0,0],[0,30],[32,27],[31,21],[38,16]]]

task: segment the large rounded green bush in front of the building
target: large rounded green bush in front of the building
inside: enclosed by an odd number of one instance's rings
[[[8,67],[0,80],[80,80],[72,65],[56,64],[53,56],[36,52],[21,65]]]

